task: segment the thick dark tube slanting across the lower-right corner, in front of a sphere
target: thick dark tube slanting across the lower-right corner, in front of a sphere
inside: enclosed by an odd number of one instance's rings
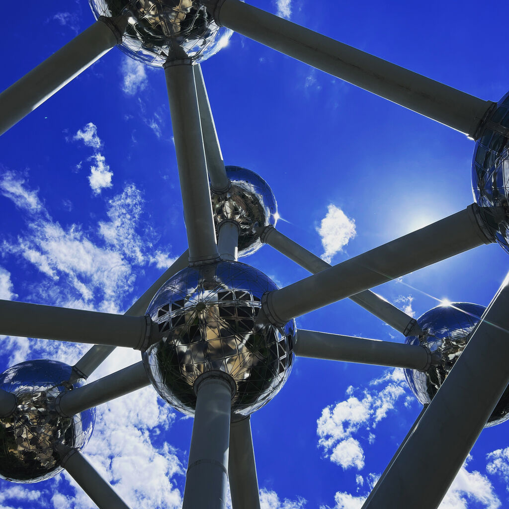
[[[440,504],[509,384],[508,282],[509,275],[363,509]]]

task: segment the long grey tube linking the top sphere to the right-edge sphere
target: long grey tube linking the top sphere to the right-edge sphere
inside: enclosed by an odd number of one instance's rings
[[[470,137],[493,106],[240,0],[206,3],[220,25]]]

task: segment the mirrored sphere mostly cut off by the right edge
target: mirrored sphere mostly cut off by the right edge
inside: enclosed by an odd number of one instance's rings
[[[472,189],[492,235],[509,252],[509,94],[491,112],[475,145]]]

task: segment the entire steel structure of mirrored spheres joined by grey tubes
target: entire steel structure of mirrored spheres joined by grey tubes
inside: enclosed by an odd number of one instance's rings
[[[124,316],[0,302],[0,334],[95,344],[72,369],[59,367],[64,381],[47,366],[15,366],[3,375],[2,476],[31,482],[64,468],[99,507],[127,507],[83,457],[80,437],[90,433],[90,409],[152,382],[194,414],[183,507],[224,507],[229,482],[234,509],[256,509],[249,415],[279,390],[295,354],[407,370],[425,409],[363,507],[437,507],[494,410],[499,421],[509,416],[509,279],[484,313],[455,306],[474,317],[466,325],[457,317],[442,323],[438,312],[416,321],[370,288],[481,244],[497,241],[507,250],[509,99],[478,99],[240,0],[177,4],[91,0],[96,23],[0,95],[5,132],[116,45],[163,67],[189,245]],[[279,233],[270,188],[252,172],[225,168],[215,133],[199,61],[220,49],[227,29],[476,140],[477,203],[333,267]],[[313,275],[277,289],[237,262],[263,243]],[[347,297],[407,344],[295,330],[295,317]],[[80,386],[116,347],[144,352],[143,361]],[[488,361],[486,350],[497,355]],[[6,436],[14,440],[9,447]]]

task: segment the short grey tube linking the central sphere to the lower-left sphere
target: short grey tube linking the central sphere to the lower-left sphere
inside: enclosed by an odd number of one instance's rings
[[[56,407],[61,415],[71,416],[147,385],[150,380],[140,361],[95,382],[63,392],[56,399]]]

